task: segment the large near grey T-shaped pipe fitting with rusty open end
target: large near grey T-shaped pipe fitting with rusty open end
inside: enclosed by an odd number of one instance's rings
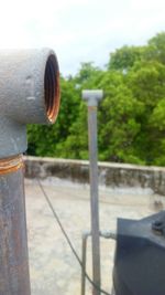
[[[25,125],[51,124],[59,108],[59,71],[50,49],[0,51],[0,158],[26,150]]]

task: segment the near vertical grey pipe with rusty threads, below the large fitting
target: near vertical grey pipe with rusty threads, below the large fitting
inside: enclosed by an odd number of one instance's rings
[[[31,294],[22,156],[0,159],[0,294]]]

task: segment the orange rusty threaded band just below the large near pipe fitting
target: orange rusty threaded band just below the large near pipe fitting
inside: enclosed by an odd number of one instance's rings
[[[22,155],[19,155],[12,158],[1,159],[0,160],[0,176],[15,172],[23,167],[24,167],[24,162],[23,162]]]

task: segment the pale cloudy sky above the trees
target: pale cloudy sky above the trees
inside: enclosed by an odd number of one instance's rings
[[[52,48],[61,73],[165,31],[165,0],[0,0],[0,49]]]

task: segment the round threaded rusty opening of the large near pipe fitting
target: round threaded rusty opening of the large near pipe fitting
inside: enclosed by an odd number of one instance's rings
[[[50,55],[45,67],[45,105],[51,123],[55,122],[59,109],[59,72],[55,55]]]

